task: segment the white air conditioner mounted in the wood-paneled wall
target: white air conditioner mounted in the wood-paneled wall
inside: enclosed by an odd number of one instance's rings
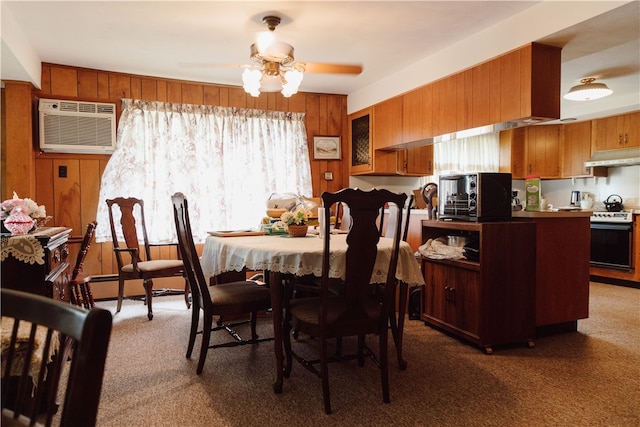
[[[52,153],[110,154],[116,149],[116,105],[41,99],[40,149]]]

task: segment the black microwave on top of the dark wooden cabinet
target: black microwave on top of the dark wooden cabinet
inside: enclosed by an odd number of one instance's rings
[[[511,219],[511,174],[476,172],[440,176],[438,219],[508,221]]]

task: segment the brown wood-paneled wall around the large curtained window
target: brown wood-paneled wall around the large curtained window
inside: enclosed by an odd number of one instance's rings
[[[240,73],[238,82],[241,81]],[[347,100],[345,95],[298,93],[290,98],[278,93],[262,93],[254,98],[241,87],[210,83],[172,80],[150,76],[110,72],[57,64],[42,64],[42,87],[28,90],[14,84],[11,90],[3,90],[3,125],[9,119],[19,126],[3,129],[3,151],[23,153],[8,159],[3,156],[3,197],[13,189],[7,187],[9,177],[19,176],[22,197],[31,197],[44,204],[47,213],[53,215],[48,225],[73,228],[72,236],[79,239],[86,224],[95,219],[99,197],[100,178],[108,155],[42,153],[38,147],[38,99],[67,99],[91,102],[112,102],[120,116],[122,98],[143,99],[223,107],[255,108],[263,110],[306,113],[307,139],[311,158],[313,194],[318,197],[324,191],[337,191],[348,186],[348,162],[313,159],[314,136],[340,136],[342,152],[347,153]],[[304,82],[303,82],[304,87]],[[17,88],[17,89],[15,89]],[[31,105],[29,108],[24,108]],[[30,117],[26,117],[29,116]],[[4,126],[3,126],[4,127]],[[6,132],[6,136],[5,136]],[[11,138],[9,138],[11,136]],[[32,142],[30,150],[24,150]],[[6,145],[6,147],[5,147]],[[24,152],[28,153],[24,155]],[[35,158],[35,161],[34,161]],[[59,168],[66,166],[67,176],[59,176]],[[326,181],[324,172],[333,173],[333,180]],[[24,193],[24,194],[23,194]],[[78,246],[78,245],[74,245]],[[70,259],[75,259],[72,247]],[[159,255],[159,253],[157,254]],[[165,254],[163,254],[165,255]],[[85,270],[92,274],[111,274],[115,271],[110,244],[94,244],[90,249]]]

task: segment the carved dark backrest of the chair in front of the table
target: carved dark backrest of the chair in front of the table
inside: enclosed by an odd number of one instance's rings
[[[386,189],[373,189],[364,191],[354,188],[346,188],[336,193],[325,192],[322,194],[324,206],[334,203],[345,203],[349,208],[351,226],[347,235],[346,253],[346,278],[347,289],[345,292],[347,304],[358,305],[358,299],[368,292],[370,280],[375,265],[377,244],[380,239],[378,230],[379,216],[385,204],[404,206],[406,194],[393,193]],[[324,257],[323,257],[323,288],[329,285],[329,259],[330,259],[330,230],[329,211],[325,210],[324,233]],[[402,211],[398,212],[396,223],[388,221],[388,226],[395,228],[392,256],[387,275],[387,283],[392,287],[395,283],[395,272],[398,261],[400,245],[400,230],[402,224]],[[362,307],[358,308],[362,310]]]

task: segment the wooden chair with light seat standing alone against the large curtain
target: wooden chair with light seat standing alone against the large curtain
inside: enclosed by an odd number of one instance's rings
[[[145,290],[145,304],[147,305],[147,317],[153,319],[153,309],[151,300],[154,295],[153,279],[160,277],[181,276],[183,274],[183,263],[180,259],[160,259],[151,258],[151,245],[147,237],[147,227],[144,217],[144,201],[136,198],[118,197],[108,199],[109,223],[111,226],[111,237],[113,241],[113,251],[118,263],[118,306],[116,312],[122,308],[124,297],[124,283],[127,280],[142,280]],[[120,220],[116,211],[120,213]],[[139,218],[139,221],[136,219]],[[116,222],[119,224],[117,226]],[[142,236],[138,235],[140,230]],[[121,247],[124,243],[124,247]],[[141,247],[142,246],[142,247]],[[182,290],[164,289],[159,293],[183,293]],[[184,297],[187,307],[189,301],[189,283],[185,277]]]

